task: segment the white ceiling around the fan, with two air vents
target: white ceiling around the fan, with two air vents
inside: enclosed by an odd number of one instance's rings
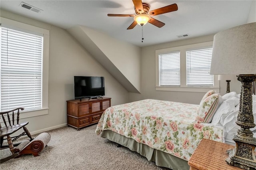
[[[20,7],[25,2],[40,8],[40,13]],[[29,18],[68,29],[75,25],[87,26],[116,39],[140,47],[182,40],[179,35],[194,38],[215,34],[221,30],[246,24],[251,0],[142,0],[150,10],[176,3],[178,11],[154,16],[164,22],[158,28],[150,23],[126,30],[132,17],[108,17],[107,14],[135,14],[132,0],[0,0],[0,8]]]

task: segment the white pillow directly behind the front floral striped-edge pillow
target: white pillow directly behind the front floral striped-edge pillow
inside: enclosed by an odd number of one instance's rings
[[[215,112],[212,118],[212,125],[222,125],[220,124],[220,119],[224,119],[227,115],[231,113],[231,111],[235,110],[235,106],[232,103],[227,101],[223,101],[220,106],[218,107],[217,111]],[[224,115],[224,117],[222,117]]]

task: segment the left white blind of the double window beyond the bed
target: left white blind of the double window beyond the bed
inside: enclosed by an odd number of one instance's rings
[[[159,55],[160,86],[180,86],[180,51]]]

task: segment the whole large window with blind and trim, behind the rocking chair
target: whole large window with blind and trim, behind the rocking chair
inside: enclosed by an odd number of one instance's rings
[[[47,114],[49,31],[1,17],[0,110]]]

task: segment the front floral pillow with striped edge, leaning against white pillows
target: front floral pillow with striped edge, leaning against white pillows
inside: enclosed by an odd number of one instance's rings
[[[222,97],[219,94],[213,94],[206,97],[203,102],[200,103],[196,118],[198,123],[211,123],[214,113],[222,103]]]

